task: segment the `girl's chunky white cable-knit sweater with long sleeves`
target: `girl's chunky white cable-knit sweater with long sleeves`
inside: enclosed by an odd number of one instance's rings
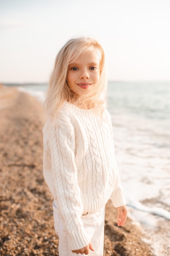
[[[81,215],[96,213],[111,198],[114,207],[126,204],[115,161],[109,112],[66,102],[44,129],[44,178],[57,202],[70,248],[89,244]]]

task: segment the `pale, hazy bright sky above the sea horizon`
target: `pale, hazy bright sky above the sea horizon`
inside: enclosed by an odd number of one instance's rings
[[[170,0],[0,0],[0,83],[48,82],[74,36],[99,41],[111,81],[170,80]]]

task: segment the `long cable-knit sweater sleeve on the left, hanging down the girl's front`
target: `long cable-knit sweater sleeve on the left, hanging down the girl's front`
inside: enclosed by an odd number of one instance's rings
[[[74,162],[74,126],[67,119],[50,125],[50,155],[53,179],[53,196],[68,232],[72,250],[81,249],[90,240],[83,227],[83,205]]]

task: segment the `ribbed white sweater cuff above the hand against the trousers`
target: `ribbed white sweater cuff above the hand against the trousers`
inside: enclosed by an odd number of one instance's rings
[[[90,243],[90,238],[84,228],[74,230],[69,234],[68,239],[69,247],[71,250],[78,250]]]

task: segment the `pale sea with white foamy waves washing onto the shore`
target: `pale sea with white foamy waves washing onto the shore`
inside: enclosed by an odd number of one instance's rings
[[[47,84],[23,84],[41,102]],[[129,217],[170,256],[170,81],[109,81],[108,110]]]

